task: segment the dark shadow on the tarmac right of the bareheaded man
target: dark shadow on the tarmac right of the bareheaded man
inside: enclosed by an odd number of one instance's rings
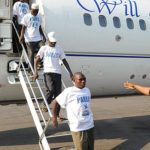
[[[126,139],[111,150],[141,150],[150,142],[150,116],[95,121],[95,139]]]

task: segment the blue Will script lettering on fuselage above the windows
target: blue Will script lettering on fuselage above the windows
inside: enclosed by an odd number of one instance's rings
[[[84,4],[83,4],[84,1]],[[80,7],[88,12],[95,12],[95,10],[90,10],[88,8],[86,8],[85,6],[85,1],[88,0],[77,0],[78,4],[80,5]],[[123,5],[124,6],[124,10],[125,10],[125,16],[129,16],[131,15],[132,17],[139,17],[139,13],[138,13],[138,6],[135,0],[131,1],[131,0],[125,0],[123,2],[123,0],[93,0],[94,4],[97,7],[97,10],[99,13],[101,13],[103,11],[103,9],[107,9],[109,15],[111,15],[113,13],[113,11],[115,10],[116,7]]]

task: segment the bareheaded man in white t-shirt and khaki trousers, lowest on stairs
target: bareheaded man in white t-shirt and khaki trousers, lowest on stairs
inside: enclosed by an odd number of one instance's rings
[[[53,101],[53,125],[58,127],[57,105],[66,108],[69,126],[76,150],[94,150],[94,121],[90,109],[91,93],[85,87],[86,78],[81,72],[73,77],[75,86],[66,88]]]

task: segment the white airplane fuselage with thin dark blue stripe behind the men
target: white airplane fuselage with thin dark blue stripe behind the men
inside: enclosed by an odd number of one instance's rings
[[[45,33],[55,31],[73,72],[82,71],[93,96],[121,95],[130,81],[150,85],[150,11],[148,0],[35,0],[40,5]],[[91,17],[87,25],[84,15]],[[101,26],[99,16],[106,18]],[[120,20],[116,28],[113,18]],[[127,25],[133,21],[133,29]],[[145,22],[140,28],[139,21]],[[131,27],[132,28],[132,27]],[[7,63],[0,52],[0,100],[24,99],[19,84],[8,83]],[[64,80],[68,78],[62,70]],[[70,85],[66,81],[66,85]]]

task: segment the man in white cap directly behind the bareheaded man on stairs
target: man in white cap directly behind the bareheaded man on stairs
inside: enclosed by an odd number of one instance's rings
[[[48,45],[42,46],[37,53],[34,61],[34,71],[33,79],[38,77],[37,74],[37,63],[43,59],[44,65],[44,80],[46,87],[46,98],[48,104],[52,102],[52,98],[55,98],[61,93],[61,68],[59,60],[62,60],[63,64],[70,73],[72,78],[73,74],[69,67],[67,60],[65,59],[64,51],[56,44],[57,40],[55,38],[55,33],[48,33]],[[46,106],[43,107],[44,111],[47,111]],[[57,118],[59,117],[60,106],[57,108]]]

